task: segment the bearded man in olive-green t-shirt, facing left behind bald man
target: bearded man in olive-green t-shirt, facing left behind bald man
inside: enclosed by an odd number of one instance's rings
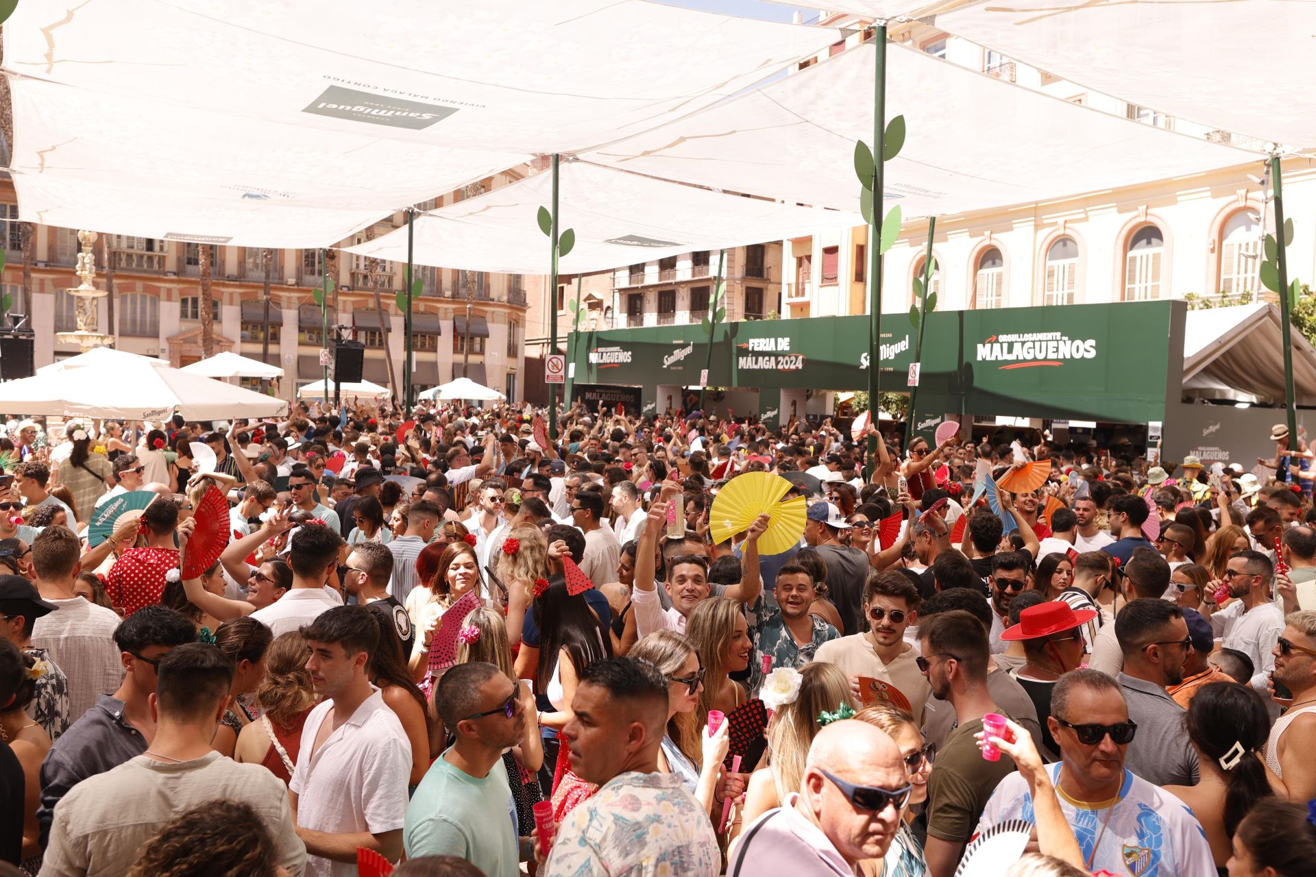
[[[967,611],[955,610],[925,618],[919,625],[919,669],[928,677],[932,694],[950,701],[958,726],[937,753],[928,777],[928,843],[924,855],[930,877],[950,877],[973,836],[992,789],[1015,770],[1004,752],[988,761],[974,735],[983,728],[983,715],[1003,713],[987,689],[987,631]]]

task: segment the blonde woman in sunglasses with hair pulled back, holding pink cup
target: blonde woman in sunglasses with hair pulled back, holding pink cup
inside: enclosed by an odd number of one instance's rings
[[[682,788],[695,795],[704,810],[712,811],[730,738],[726,722],[713,736],[695,726],[695,710],[704,688],[704,671],[695,647],[674,630],[659,630],[636,643],[628,657],[649,661],[667,678],[667,726],[658,751],[658,773],[675,773]]]

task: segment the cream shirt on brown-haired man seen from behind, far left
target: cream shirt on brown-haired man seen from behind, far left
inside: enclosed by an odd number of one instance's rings
[[[68,722],[76,722],[101,694],[113,694],[124,681],[124,663],[114,644],[118,613],[83,597],[47,600],[58,611],[38,618],[32,644],[50,652],[68,677]]]

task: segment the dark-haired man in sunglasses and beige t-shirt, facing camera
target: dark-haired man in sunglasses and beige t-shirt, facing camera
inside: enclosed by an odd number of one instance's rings
[[[861,701],[865,697],[861,676],[899,689],[921,726],[928,680],[919,669],[919,650],[904,639],[905,628],[919,619],[919,588],[903,573],[895,569],[878,573],[863,589],[869,630],[824,643],[819,647],[817,660],[840,667],[850,677],[850,688]]]

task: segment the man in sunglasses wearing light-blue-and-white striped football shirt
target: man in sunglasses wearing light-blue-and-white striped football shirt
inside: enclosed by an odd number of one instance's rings
[[[1192,811],[1125,768],[1130,746],[1142,743],[1148,730],[1129,721],[1115,680],[1092,669],[1066,673],[1051,692],[1050,713],[1048,728],[1059,744],[1061,761],[1042,769],[1088,870],[1184,877],[1216,873],[1211,845]],[[1009,819],[1034,822],[1033,813],[1028,782],[1012,773],[987,802],[975,834]],[[1030,848],[1036,849],[1036,831]]]

